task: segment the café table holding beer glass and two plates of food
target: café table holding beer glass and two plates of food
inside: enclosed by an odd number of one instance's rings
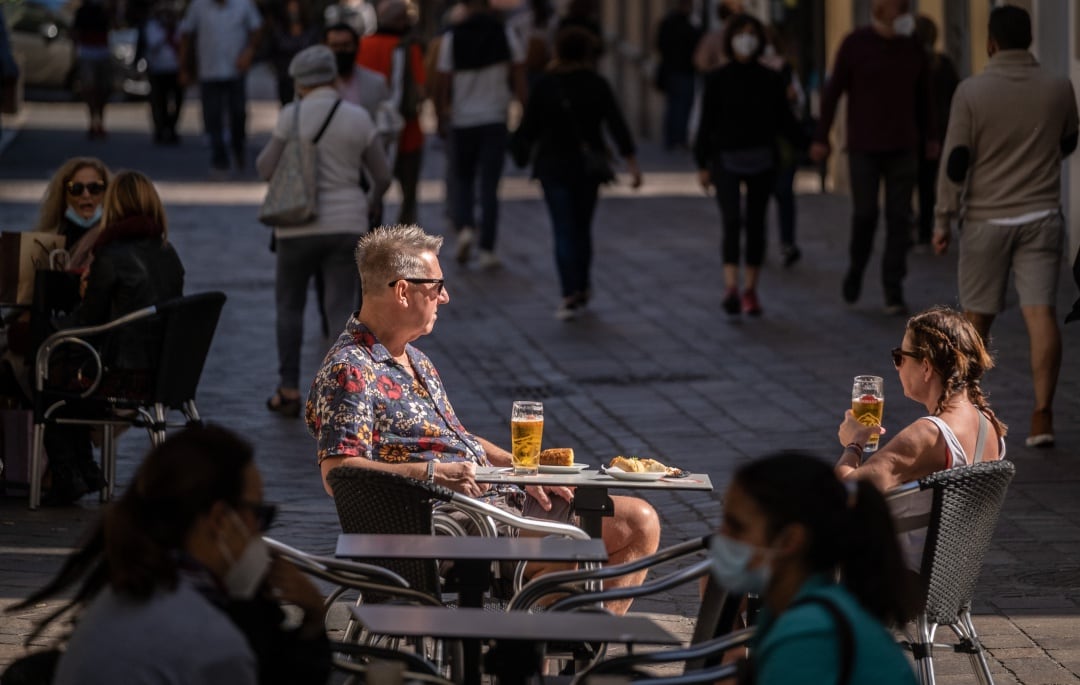
[[[681,478],[662,478],[658,481],[626,481],[602,473],[595,466],[576,473],[537,473],[516,475],[510,467],[476,467],[477,483],[512,483],[526,485],[566,485],[573,492],[573,510],[581,519],[581,529],[590,537],[600,537],[604,516],[615,514],[610,489],[634,491],[713,491],[707,473],[689,473]]]

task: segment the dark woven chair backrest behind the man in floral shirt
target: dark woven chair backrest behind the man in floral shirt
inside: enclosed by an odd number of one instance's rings
[[[435,498],[424,483],[374,469],[337,467],[326,474],[342,533],[432,535]],[[409,587],[441,596],[434,561],[368,559],[405,578]]]

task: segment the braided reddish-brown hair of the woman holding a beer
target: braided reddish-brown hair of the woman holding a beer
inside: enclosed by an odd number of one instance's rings
[[[945,411],[958,393],[967,392],[968,400],[1003,438],[1008,428],[994,415],[980,386],[983,374],[994,368],[994,359],[971,322],[955,309],[934,307],[908,319],[907,331],[915,348],[912,351],[929,361],[945,381],[934,414]]]

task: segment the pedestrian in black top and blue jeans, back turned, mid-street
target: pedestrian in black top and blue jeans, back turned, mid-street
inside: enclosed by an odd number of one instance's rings
[[[537,80],[512,145],[515,162],[524,166],[531,160],[532,176],[543,188],[563,294],[555,318],[564,321],[576,318],[592,293],[593,213],[599,186],[610,178],[591,171],[589,160],[606,164],[605,130],[626,160],[632,187],[642,185],[634,139],[611,86],[596,73],[594,51],[589,31],[558,32],[555,61]]]

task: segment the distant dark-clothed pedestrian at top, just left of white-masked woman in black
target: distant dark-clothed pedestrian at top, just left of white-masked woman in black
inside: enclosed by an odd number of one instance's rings
[[[693,3],[676,0],[660,22],[657,51],[660,71],[657,85],[664,94],[664,149],[687,148],[687,124],[693,107],[693,51],[701,40],[701,29],[690,22]]]

